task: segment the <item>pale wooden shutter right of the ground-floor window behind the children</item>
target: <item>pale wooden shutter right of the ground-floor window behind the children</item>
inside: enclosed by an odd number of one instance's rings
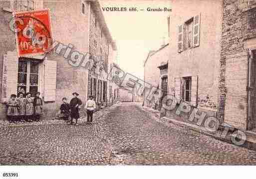
[[[44,60],[44,101],[55,101],[57,62]]]

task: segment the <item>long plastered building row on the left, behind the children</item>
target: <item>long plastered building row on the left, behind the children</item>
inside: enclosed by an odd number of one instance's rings
[[[74,91],[80,94],[79,98],[84,103],[88,94],[95,95],[98,104],[107,99],[110,101],[112,90],[109,89],[112,84],[108,84],[105,79],[115,59],[116,47],[98,1],[3,0],[0,7],[0,97],[2,102],[12,93],[32,92],[34,95],[35,91],[39,91],[44,103],[43,117],[51,118],[58,111],[62,97],[70,100]],[[15,35],[9,29],[8,23],[12,17],[11,12],[42,8],[50,9],[53,41],[65,46],[62,46],[59,54],[49,53],[45,58],[41,55],[18,58]],[[58,48],[61,44],[56,47]],[[104,61],[102,67],[92,68],[88,72],[88,69],[80,66],[82,61],[71,61],[70,56],[64,58],[63,54],[67,46],[72,47],[72,51],[82,54],[92,53],[94,60]],[[93,81],[92,77],[96,80]],[[96,82],[96,85],[91,85],[91,82]],[[92,89],[95,88],[96,92],[93,93]],[[118,87],[114,86],[114,88]],[[4,118],[5,112],[5,105],[0,104],[1,119]]]

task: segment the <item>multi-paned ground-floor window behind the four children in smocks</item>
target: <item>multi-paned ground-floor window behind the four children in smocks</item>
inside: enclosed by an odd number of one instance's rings
[[[35,96],[38,91],[39,62],[37,61],[18,61],[18,84],[17,93],[30,92]]]

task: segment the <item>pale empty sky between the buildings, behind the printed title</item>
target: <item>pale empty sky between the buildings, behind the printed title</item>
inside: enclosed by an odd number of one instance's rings
[[[100,0],[100,4],[102,7],[127,8],[127,11],[102,12],[116,41],[118,65],[143,79],[143,64],[148,52],[168,43],[167,16],[170,13],[147,11],[147,8],[171,8],[170,0]],[[129,7],[144,10],[129,11]]]

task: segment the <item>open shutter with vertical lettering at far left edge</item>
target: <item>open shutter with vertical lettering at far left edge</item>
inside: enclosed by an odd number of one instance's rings
[[[17,53],[8,51],[3,54],[1,101],[5,102],[11,94],[17,93],[18,57]]]

